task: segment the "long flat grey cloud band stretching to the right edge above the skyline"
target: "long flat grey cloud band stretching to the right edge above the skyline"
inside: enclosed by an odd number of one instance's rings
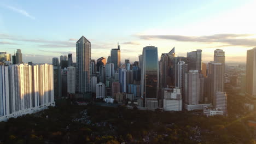
[[[167,39],[184,42],[200,43],[223,43],[231,46],[256,46],[256,39],[250,38],[254,34],[214,34],[203,36],[184,36],[184,35],[138,35],[141,39]]]

